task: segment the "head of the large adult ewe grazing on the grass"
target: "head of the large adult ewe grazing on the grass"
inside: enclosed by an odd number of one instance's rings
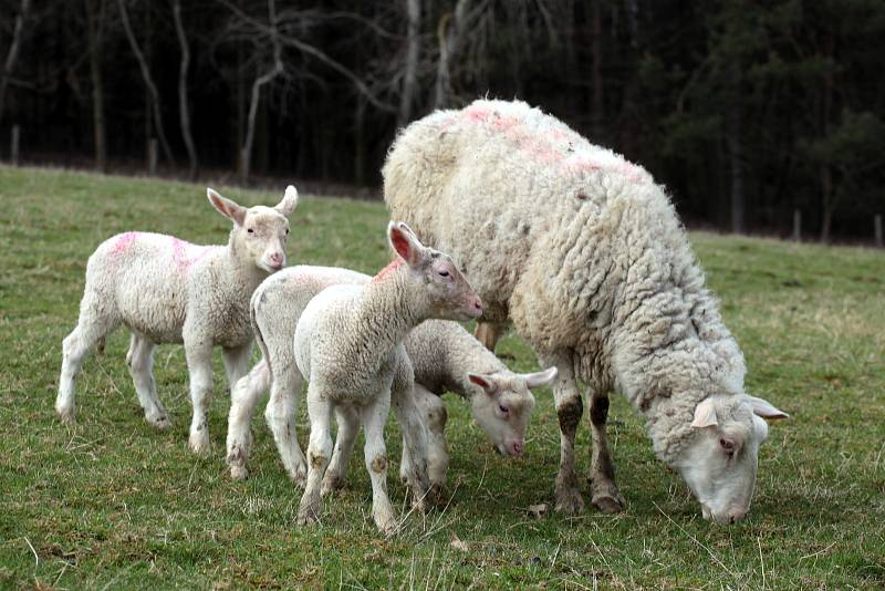
[[[787,418],[762,398],[714,395],[695,408],[694,432],[674,467],[700,501],[705,519],[733,523],[750,510],[763,418]]]

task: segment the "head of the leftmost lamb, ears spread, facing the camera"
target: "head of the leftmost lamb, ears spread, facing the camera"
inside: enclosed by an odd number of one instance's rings
[[[231,246],[240,256],[269,273],[285,266],[285,241],[289,239],[287,217],[298,205],[298,190],[292,185],[285,189],[283,199],[274,207],[257,205],[242,207],[221,197],[211,188],[206,190],[209,203],[233,221]]]

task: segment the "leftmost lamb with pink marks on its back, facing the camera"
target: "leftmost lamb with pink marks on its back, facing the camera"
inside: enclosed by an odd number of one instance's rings
[[[285,265],[287,217],[298,204],[298,190],[290,185],[272,208],[246,208],[211,188],[207,196],[233,222],[226,246],[129,231],[105,240],[90,257],[80,319],[63,342],[55,400],[63,421],[74,421],[74,383],[86,355],[123,324],[132,332],[126,362],[135,392],[145,418],[158,428],[170,422],[157,397],[154,349],[184,343],[194,403],[188,443],[196,453],[208,452],[212,348],[222,348],[228,384],[235,384],[248,370],[252,349],[249,298]]]

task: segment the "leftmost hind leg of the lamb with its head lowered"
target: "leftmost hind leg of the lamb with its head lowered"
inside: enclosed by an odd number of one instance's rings
[[[264,360],[242,376],[230,393],[230,415],[228,416],[228,455],[230,477],[241,480],[249,476],[246,467],[252,447],[250,424],[261,394],[270,386],[270,371]]]

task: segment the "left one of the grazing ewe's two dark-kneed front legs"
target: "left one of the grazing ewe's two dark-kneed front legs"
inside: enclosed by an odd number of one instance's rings
[[[584,500],[577,489],[577,475],[574,470],[574,437],[584,412],[581,391],[574,379],[571,351],[560,352],[542,361],[543,365],[555,365],[559,371],[553,384],[560,421],[560,471],[555,484],[555,509],[570,515],[579,514],[584,510]]]

